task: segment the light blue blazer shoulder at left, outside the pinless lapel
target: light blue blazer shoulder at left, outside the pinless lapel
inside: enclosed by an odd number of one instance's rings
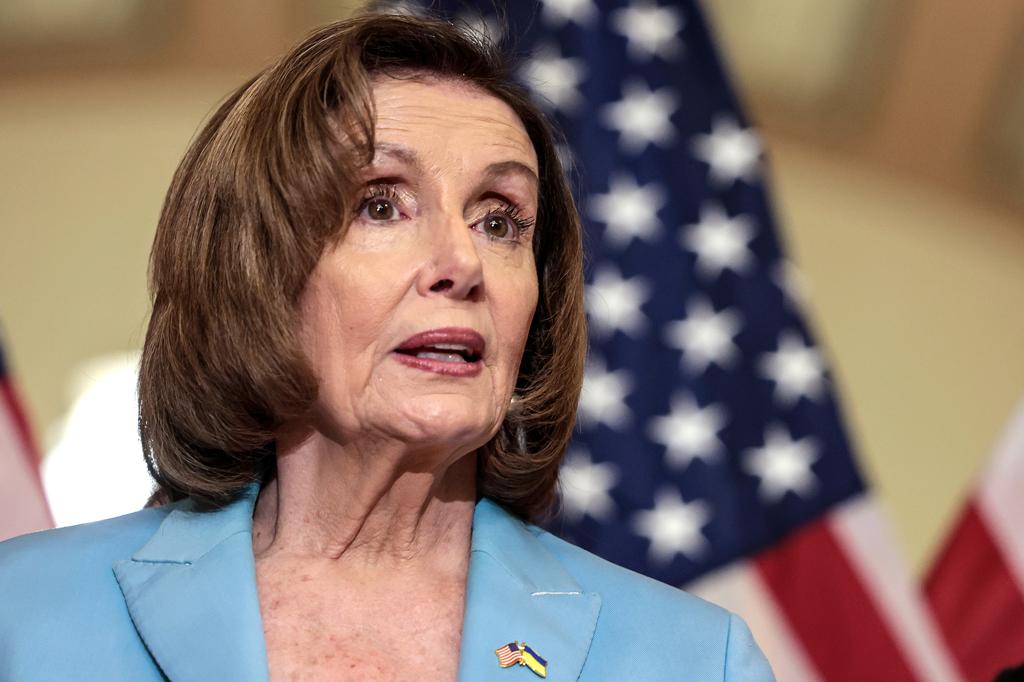
[[[0,543],[0,679],[157,680],[114,562],[141,549],[167,507]],[[48,655],[53,651],[60,655]]]

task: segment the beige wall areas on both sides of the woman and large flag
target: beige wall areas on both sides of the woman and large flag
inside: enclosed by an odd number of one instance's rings
[[[163,193],[234,77],[0,92],[0,319],[40,427],[76,367],[141,343]],[[879,171],[776,143],[812,324],[852,435],[922,569],[1024,394],[1024,226]]]

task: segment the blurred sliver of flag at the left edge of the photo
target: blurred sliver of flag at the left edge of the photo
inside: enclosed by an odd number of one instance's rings
[[[39,451],[0,347],[0,541],[52,526]]]

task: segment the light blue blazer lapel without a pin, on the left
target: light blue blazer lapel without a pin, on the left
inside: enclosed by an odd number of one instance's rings
[[[171,682],[268,679],[252,550],[258,489],[212,512],[182,503],[114,564],[132,622]]]

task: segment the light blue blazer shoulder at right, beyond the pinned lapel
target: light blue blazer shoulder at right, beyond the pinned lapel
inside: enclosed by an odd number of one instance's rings
[[[645,669],[643,676],[652,680],[774,681],[767,659],[738,615],[540,528],[531,531],[584,591],[601,597],[585,673],[611,679],[622,669],[617,676],[629,679],[640,666]],[[666,655],[670,651],[672,655]],[[686,662],[685,673],[681,660]]]

